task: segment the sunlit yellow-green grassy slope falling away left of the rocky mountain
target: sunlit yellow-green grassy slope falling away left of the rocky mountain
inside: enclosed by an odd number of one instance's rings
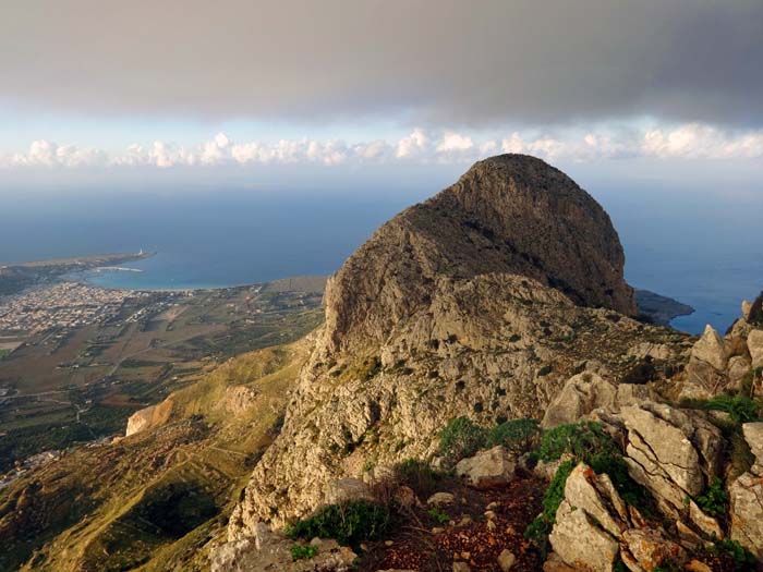
[[[0,541],[10,547],[0,557],[0,570],[15,570],[35,548],[23,570],[208,567],[203,546],[221,533],[237,491],[272,439],[306,352],[300,341],[234,357],[172,393],[164,426],[116,445],[76,450],[0,491]],[[252,406],[232,415],[222,403],[227,388],[240,385],[253,388],[256,397]],[[184,498],[193,502],[182,512]],[[196,510],[210,503],[214,513]],[[167,530],[161,519],[170,509],[180,511],[173,523],[190,530]],[[40,548],[45,540],[50,541]]]

